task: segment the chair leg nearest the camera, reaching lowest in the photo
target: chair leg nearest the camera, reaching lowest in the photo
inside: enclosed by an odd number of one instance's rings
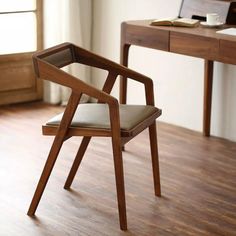
[[[121,145],[115,142],[115,140],[112,138],[112,147],[114,156],[114,168],[115,168],[120,228],[121,230],[127,230],[124,171],[123,171]]]

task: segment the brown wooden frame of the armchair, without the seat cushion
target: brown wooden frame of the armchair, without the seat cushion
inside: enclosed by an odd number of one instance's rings
[[[143,83],[145,87],[146,104],[154,106],[153,81],[140,73],[137,73],[120,64],[105,59],[71,43],[63,43],[58,46],[46,49],[42,52],[35,53],[33,55],[33,63],[35,73],[38,78],[69,87],[71,88],[72,93],[65,108],[59,127],[51,127],[47,125],[43,126],[43,134],[54,135],[55,138],[27,214],[29,216],[33,216],[35,214],[49,176],[56,162],[57,156],[65,140],[72,136],[83,136],[81,145],[78,149],[75,160],[64,185],[65,189],[69,189],[82,161],[87,146],[91,140],[91,137],[111,137],[120,228],[122,230],[127,230],[122,147],[145,128],[149,128],[154,191],[156,196],[161,196],[155,122],[155,119],[160,114],[155,114],[155,116],[145,120],[145,122],[135,127],[135,129],[122,133],[120,130],[119,102],[116,98],[110,95],[110,92],[118,75],[121,75],[124,78],[130,78]],[[104,83],[103,89],[99,90],[66,73],[65,71],[60,70],[61,67],[71,63],[80,63],[108,71],[108,76]],[[87,94],[90,97],[96,98],[99,103],[108,104],[111,124],[110,129],[70,128],[71,121],[80,102],[82,94]]]

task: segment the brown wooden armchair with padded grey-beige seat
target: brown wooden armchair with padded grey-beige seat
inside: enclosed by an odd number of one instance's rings
[[[91,137],[111,137],[120,228],[126,230],[122,146],[147,127],[149,127],[150,134],[155,195],[161,195],[155,123],[156,118],[161,115],[161,110],[154,107],[152,80],[70,43],[64,43],[35,53],[33,62],[38,78],[70,87],[72,93],[64,113],[52,118],[43,125],[43,134],[54,135],[55,138],[29,207],[28,215],[33,216],[35,214],[58,153],[65,140],[72,136],[83,136],[65,182],[64,188],[69,189]],[[108,71],[103,89],[99,90],[92,87],[60,69],[72,63],[81,63]],[[120,105],[117,99],[110,95],[118,75],[144,84],[147,105]],[[82,94],[96,98],[98,103],[79,104]]]

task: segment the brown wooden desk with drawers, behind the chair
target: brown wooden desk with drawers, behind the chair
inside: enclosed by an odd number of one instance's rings
[[[216,33],[219,29],[150,26],[150,20],[128,21],[121,25],[121,64],[128,66],[131,45],[203,58],[203,134],[210,135],[213,64],[236,64],[236,37]],[[232,26],[231,26],[232,27]],[[120,102],[126,103],[127,79],[121,79]]]

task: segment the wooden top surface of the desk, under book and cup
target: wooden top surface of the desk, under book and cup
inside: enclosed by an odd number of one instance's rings
[[[216,31],[226,28],[235,28],[236,25],[223,25],[222,27],[218,28],[207,28],[203,26],[198,26],[194,28],[188,27],[173,27],[173,26],[151,26],[152,20],[135,20],[135,21],[125,21],[123,25],[126,26],[133,26],[133,27],[145,27],[145,29],[150,30],[158,30],[158,31],[169,31],[169,32],[176,32],[176,33],[183,33],[188,35],[195,35],[195,36],[203,36],[208,38],[215,38],[215,39],[222,39],[222,40],[229,40],[236,42],[236,36],[226,35],[226,34],[219,34]]]

